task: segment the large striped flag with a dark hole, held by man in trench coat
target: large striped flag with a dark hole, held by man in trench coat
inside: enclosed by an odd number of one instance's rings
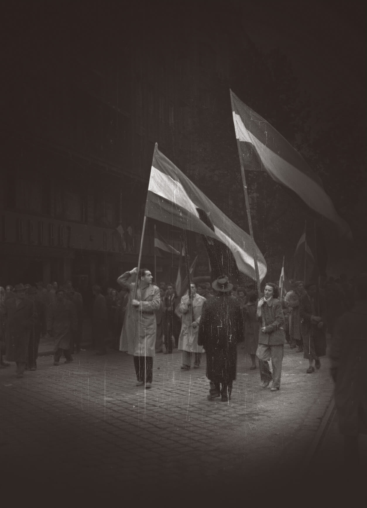
[[[240,272],[256,280],[254,249],[260,280],[266,263],[250,235],[232,222],[167,157],[154,150],[145,214],[171,226],[195,231],[228,247]],[[211,267],[212,260],[211,260]]]

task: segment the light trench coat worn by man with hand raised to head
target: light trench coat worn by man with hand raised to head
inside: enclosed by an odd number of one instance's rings
[[[127,351],[134,356],[155,356],[157,321],[156,311],[161,305],[159,288],[149,284],[141,290],[138,285],[136,299],[139,307],[132,305],[135,275],[126,272],[118,277],[117,282],[129,291],[129,301],[125,313],[124,326],[120,335],[120,351]]]

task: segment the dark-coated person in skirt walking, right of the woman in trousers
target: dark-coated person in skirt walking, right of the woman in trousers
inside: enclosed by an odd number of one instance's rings
[[[299,300],[301,336],[303,340],[303,358],[309,360],[308,374],[321,367],[320,356],[326,355],[326,324],[319,314],[323,311],[321,298],[317,299],[314,282],[307,285],[307,293]],[[313,363],[315,362],[315,367]]]

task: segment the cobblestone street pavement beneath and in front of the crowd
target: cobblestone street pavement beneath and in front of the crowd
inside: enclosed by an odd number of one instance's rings
[[[208,401],[205,355],[182,371],[180,353],[158,354],[150,390],[136,387],[132,357],[109,350],[74,355],[71,364],[38,359],[35,372],[0,370],[1,457],[6,472],[58,492],[91,487],[176,488],[246,479],[290,478],[332,395],[328,360],[307,374],[307,360],[285,346],[279,392],[259,388],[259,369],[238,345],[229,403]],[[251,480],[253,479],[253,480]]]

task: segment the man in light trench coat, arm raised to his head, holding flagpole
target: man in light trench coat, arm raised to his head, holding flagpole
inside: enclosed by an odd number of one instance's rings
[[[153,357],[156,353],[156,311],[160,308],[159,288],[152,284],[149,270],[134,268],[120,275],[117,282],[129,291],[123,330],[120,336],[120,351],[134,356],[137,386],[151,387],[153,380]],[[137,282],[133,280],[137,279]],[[134,299],[135,284],[138,284]]]

